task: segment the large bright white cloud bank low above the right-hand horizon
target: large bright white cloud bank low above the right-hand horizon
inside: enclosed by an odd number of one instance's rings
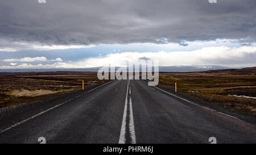
[[[256,66],[256,47],[206,47],[195,51],[178,52],[123,52],[111,53],[105,57],[86,58],[76,62],[86,68],[96,66],[126,66],[127,62],[139,62],[141,57],[159,60],[160,66],[175,65],[223,65],[230,67]]]

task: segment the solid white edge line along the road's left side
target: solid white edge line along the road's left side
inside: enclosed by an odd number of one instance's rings
[[[110,81],[110,82],[112,82],[112,81]],[[107,83],[110,83],[110,82],[107,82]],[[96,87],[96,88],[94,88],[94,89],[92,89],[92,90],[89,90],[89,91],[87,91],[85,94],[87,94],[87,93],[89,93],[90,91],[93,91],[93,90],[95,90],[95,89],[97,89],[97,88],[99,88],[99,87],[101,87],[101,86],[104,86],[104,85],[106,85],[107,83],[104,83],[103,85],[100,85],[100,86],[98,86],[98,87]],[[83,95],[84,95],[84,94],[83,94]],[[24,120],[22,120],[22,121],[19,122],[19,123],[16,123],[16,124],[14,124],[14,125],[11,125],[9,128],[2,129],[2,130],[0,131],[0,133],[3,133],[3,132],[5,132],[5,131],[7,131],[7,130],[9,130],[9,129],[11,129],[11,128],[14,128],[14,127],[16,127],[17,125],[20,125],[20,124],[22,124],[22,123],[24,123],[24,122],[27,122],[28,120],[33,119],[33,118],[35,118],[36,116],[42,115],[42,114],[46,113],[47,111],[52,110],[53,108],[59,107],[59,106],[61,106],[62,104],[65,104],[65,103],[67,103],[67,102],[70,102],[71,100],[76,99],[76,98],[79,98],[79,97],[81,97],[81,95],[78,95],[77,97],[72,98],[72,99],[69,99],[69,100],[67,100],[67,101],[65,101],[65,102],[63,102],[63,103],[57,104],[57,106],[51,107],[51,108],[49,108],[49,109],[47,109],[47,110],[45,110],[45,111],[43,111],[43,112],[40,112],[39,114],[36,114],[36,115],[34,115],[34,116],[31,116],[30,118],[24,119]]]

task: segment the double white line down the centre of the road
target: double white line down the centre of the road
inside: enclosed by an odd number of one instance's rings
[[[136,137],[135,137],[135,129],[134,129],[134,119],[133,119],[133,107],[131,103],[131,89],[129,85],[130,81],[128,80],[127,82],[127,91],[126,91],[126,98],[125,98],[125,108],[123,110],[123,120],[122,120],[122,126],[121,126],[121,131],[120,131],[120,136],[119,136],[119,144],[125,144],[126,143],[126,138],[125,138],[125,133],[126,133],[126,118],[127,118],[127,102],[128,102],[128,93],[130,94],[130,102],[129,102],[129,110],[130,110],[130,115],[129,115],[129,131],[131,134],[131,143],[135,144],[136,143]]]

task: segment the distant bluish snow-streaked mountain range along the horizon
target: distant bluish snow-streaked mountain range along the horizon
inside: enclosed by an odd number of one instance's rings
[[[116,67],[115,69],[118,69]],[[73,71],[73,72],[97,72],[97,68],[56,68],[56,69],[0,69],[0,72],[56,72],[56,71]],[[181,65],[181,66],[159,66],[159,72],[201,72],[207,70],[220,70],[220,69],[241,69],[241,68],[228,68],[224,66],[214,65]]]

